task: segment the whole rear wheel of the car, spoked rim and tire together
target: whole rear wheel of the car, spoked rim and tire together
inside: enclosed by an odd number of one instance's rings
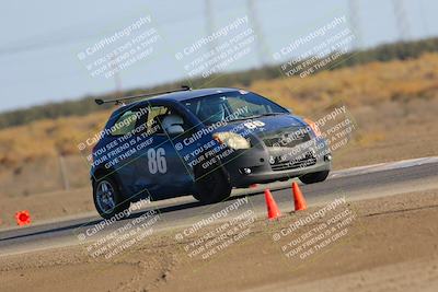
[[[94,182],[93,198],[99,214],[104,219],[111,219],[117,213],[120,217],[116,219],[122,219],[123,212],[130,206],[129,200],[123,200],[116,183],[110,177]]]

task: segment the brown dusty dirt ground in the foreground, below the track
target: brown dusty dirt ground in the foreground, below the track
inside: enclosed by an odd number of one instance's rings
[[[320,208],[274,222],[257,219],[250,234],[208,259],[189,257],[185,246],[217,226],[182,242],[175,241],[181,231],[155,233],[110,260],[79,246],[3,256],[1,291],[437,291],[438,189],[347,199],[343,209],[273,241]],[[281,252],[347,209],[355,217],[344,236],[306,258]]]

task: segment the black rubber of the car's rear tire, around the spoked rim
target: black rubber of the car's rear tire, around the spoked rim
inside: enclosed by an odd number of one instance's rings
[[[102,199],[103,195],[102,192],[99,192],[102,191],[103,184],[105,184],[107,187],[111,186],[111,190],[108,191],[113,194],[112,199],[115,205],[114,208],[111,208],[110,205],[105,205],[107,207],[107,209],[105,209],[104,201]],[[101,199],[99,199],[99,196],[101,196]],[[130,201],[122,197],[117,184],[111,177],[105,177],[93,182],[93,200],[99,214],[104,219],[111,219],[117,213],[120,213],[120,217],[116,217],[116,219],[123,219],[123,212],[126,209],[129,209],[130,206]]]

